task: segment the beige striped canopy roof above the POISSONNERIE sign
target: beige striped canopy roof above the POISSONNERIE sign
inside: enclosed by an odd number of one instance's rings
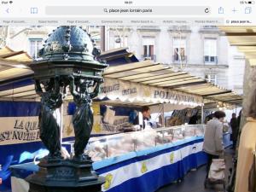
[[[164,89],[201,96],[206,101],[230,102],[241,104],[242,97],[232,90],[224,89],[207,80],[195,77],[172,67],[152,61],[141,61],[125,66],[108,67],[104,73],[108,79],[119,79],[132,83],[147,84]]]

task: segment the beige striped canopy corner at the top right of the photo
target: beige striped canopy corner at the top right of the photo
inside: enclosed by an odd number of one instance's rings
[[[256,65],[256,26],[220,26],[230,44],[243,52],[252,66]]]

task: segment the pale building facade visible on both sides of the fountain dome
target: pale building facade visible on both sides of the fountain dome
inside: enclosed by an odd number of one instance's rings
[[[84,26],[102,50],[128,47],[140,61],[170,65],[242,94],[244,55],[216,26]],[[1,46],[38,57],[55,27],[0,27]]]

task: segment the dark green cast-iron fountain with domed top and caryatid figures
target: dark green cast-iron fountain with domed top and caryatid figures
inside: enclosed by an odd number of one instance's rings
[[[41,96],[40,138],[49,154],[40,160],[39,171],[26,180],[29,192],[99,192],[104,179],[91,172],[90,157],[84,148],[93,125],[91,102],[102,84],[107,64],[97,60],[101,54],[90,34],[78,26],[60,26],[45,41],[40,59],[30,67],[35,89]],[[61,120],[57,115],[67,87],[77,108],[73,114],[74,155],[61,155]],[[43,89],[44,88],[44,89]]]

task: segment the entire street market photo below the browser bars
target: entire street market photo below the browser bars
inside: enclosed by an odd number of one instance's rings
[[[255,30],[0,26],[0,191],[243,192]]]

